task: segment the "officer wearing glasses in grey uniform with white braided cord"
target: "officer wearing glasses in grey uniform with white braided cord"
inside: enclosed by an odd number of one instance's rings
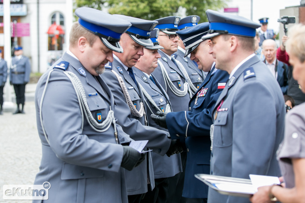
[[[178,60],[171,57],[178,50],[179,37],[176,35],[176,31],[178,31],[180,17],[169,16],[157,19],[156,21],[158,21],[156,28],[160,29],[158,41],[164,49],[158,51],[161,59],[158,60],[158,67],[154,70],[153,74],[166,90],[172,102],[173,111],[188,111],[188,102],[192,97],[192,93],[186,79],[186,74],[183,73],[185,68],[181,67],[182,64]],[[183,172],[178,173],[174,177],[178,179],[178,188],[170,191],[174,193],[170,195],[174,198],[172,202],[179,202],[182,196],[186,152],[181,153],[181,162]]]

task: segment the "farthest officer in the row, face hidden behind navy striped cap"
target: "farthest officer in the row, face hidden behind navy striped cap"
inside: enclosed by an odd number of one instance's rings
[[[185,28],[195,26],[198,24],[199,20],[199,16],[187,16],[185,18],[182,18],[178,24],[178,29],[184,30]],[[203,82],[205,75],[202,70],[198,69],[198,66],[195,65],[195,63],[190,59],[189,56],[184,55],[185,45],[180,38],[178,40],[178,51],[171,56],[181,62],[184,66],[187,75],[191,80],[191,83],[189,85],[191,87],[192,93],[194,94]]]

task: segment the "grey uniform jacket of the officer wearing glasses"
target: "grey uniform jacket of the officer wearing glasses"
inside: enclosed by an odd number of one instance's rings
[[[175,87],[177,87],[179,90],[182,91],[184,89],[184,83],[185,83],[184,75],[174,64],[174,62],[168,59],[167,56],[162,51],[158,50],[158,52],[161,55],[161,59],[158,60],[160,60],[163,63],[170,77],[170,80],[173,82]],[[169,85],[164,81],[159,64],[158,67],[154,70],[153,75],[156,77],[156,79],[161,84],[163,89],[165,89],[168,97],[170,98],[170,102],[172,103],[173,111],[174,112],[188,111],[188,102],[191,99],[191,95],[189,94],[189,92],[187,92],[187,94],[183,97],[175,95],[168,87]],[[179,84],[181,85],[181,87],[179,87]]]

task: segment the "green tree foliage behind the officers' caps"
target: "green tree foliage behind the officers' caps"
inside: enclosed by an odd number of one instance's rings
[[[207,22],[205,11],[218,10],[226,6],[228,0],[76,0],[77,7],[91,7],[101,10],[108,8],[110,14],[121,14],[136,18],[155,20],[177,15],[179,7],[186,9],[186,15],[198,15]]]

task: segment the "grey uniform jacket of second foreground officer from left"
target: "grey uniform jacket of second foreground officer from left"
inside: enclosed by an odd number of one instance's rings
[[[124,69],[120,62],[113,59],[111,67],[112,70],[119,74],[124,80],[131,100],[135,104],[136,109],[139,110],[140,102],[144,103],[144,95],[142,91],[138,89],[135,82],[128,74],[128,71]],[[133,69],[136,68],[133,67]],[[126,103],[122,88],[120,87],[117,77],[111,72],[111,69],[106,68],[106,71],[101,74],[101,77],[106,81],[113,93],[116,112],[118,115],[118,124],[122,126],[124,132],[129,134],[134,140],[149,140],[146,147],[162,156],[165,155],[170,146],[170,139],[167,137],[168,132],[145,126],[144,116],[136,117],[131,113],[129,106]],[[125,172],[128,195],[143,194],[147,192],[147,170],[149,172],[151,189],[154,188],[155,183],[150,153],[148,153],[148,158],[148,167],[147,162],[143,161],[138,167],[132,169],[132,171]]]

